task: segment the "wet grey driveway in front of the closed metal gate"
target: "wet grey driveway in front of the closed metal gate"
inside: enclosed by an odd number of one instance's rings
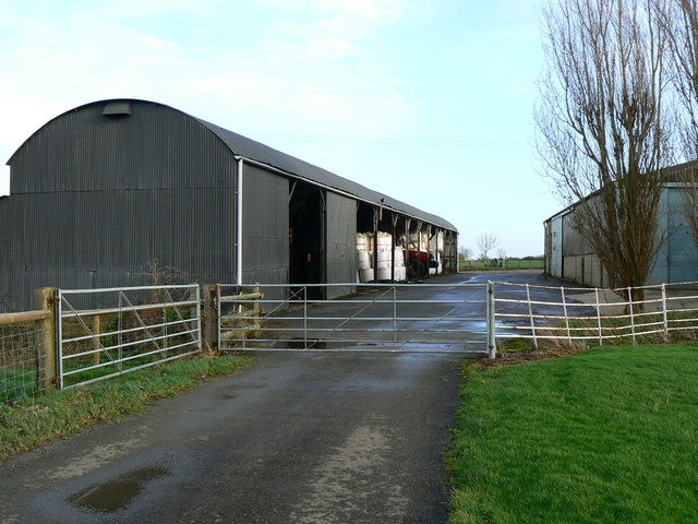
[[[142,416],[0,465],[0,522],[444,523],[461,361],[261,355]]]

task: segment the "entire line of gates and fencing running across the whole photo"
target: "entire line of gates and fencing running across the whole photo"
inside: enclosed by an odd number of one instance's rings
[[[509,282],[201,289],[37,289],[35,310],[0,314],[0,402],[193,355],[204,341],[220,350],[494,358],[497,338],[530,340],[538,347],[698,337],[698,282],[616,289]]]

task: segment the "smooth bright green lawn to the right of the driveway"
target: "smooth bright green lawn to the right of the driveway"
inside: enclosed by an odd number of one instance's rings
[[[698,522],[698,344],[467,376],[452,523]]]

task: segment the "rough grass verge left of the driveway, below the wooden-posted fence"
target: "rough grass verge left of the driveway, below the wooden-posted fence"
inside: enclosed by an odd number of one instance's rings
[[[83,388],[0,405],[0,461],[94,424],[143,412],[155,398],[177,396],[250,361],[240,356],[174,360]]]

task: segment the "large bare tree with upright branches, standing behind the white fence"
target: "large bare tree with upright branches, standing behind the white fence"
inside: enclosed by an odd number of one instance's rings
[[[663,1],[549,0],[544,10],[538,150],[557,195],[575,204],[575,229],[622,287],[646,283],[664,237],[666,44],[652,3]]]

